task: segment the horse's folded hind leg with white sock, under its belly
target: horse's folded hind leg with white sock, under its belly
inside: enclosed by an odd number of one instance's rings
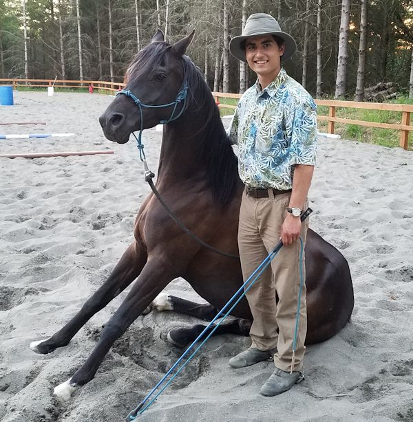
[[[167,293],[159,293],[153,302],[145,309],[149,313],[152,309],[157,311],[174,311],[185,315],[200,318],[200,320],[211,321],[217,315],[218,309],[209,303],[196,303],[191,300],[171,296]]]

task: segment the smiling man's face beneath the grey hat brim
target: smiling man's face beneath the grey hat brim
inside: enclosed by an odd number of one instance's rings
[[[245,42],[245,56],[248,66],[258,76],[268,78],[277,76],[281,69],[284,44],[279,47],[272,35],[252,36]],[[274,76],[274,78],[275,78]]]

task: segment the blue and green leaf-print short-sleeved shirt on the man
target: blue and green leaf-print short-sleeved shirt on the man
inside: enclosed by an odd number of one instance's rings
[[[317,106],[281,69],[268,87],[245,91],[229,126],[240,178],[250,188],[288,190],[295,164],[315,166]]]

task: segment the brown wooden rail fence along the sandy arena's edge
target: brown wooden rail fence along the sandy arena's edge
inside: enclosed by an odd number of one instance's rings
[[[0,85],[12,85],[17,87],[52,87],[55,89],[88,89],[90,85],[99,93],[115,93],[125,87],[123,82],[105,82],[103,80],[53,80],[53,79],[0,79]],[[226,109],[235,109],[235,105],[220,104],[220,98],[234,98],[239,100],[241,95],[238,93],[213,92],[215,102],[219,107]],[[413,131],[410,124],[410,113],[413,113],[413,104],[382,104],[375,102],[355,102],[355,101],[336,101],[336,100],[315,100],[317,105],[328,107],[328,115],[317,115],[317,120],[328,122],[328,133],[333,134],[335,123],[356,124],[359,126],[369,126],[383,129],[394,129],[400,131],[400,146],[407,149],[409,142],[409,133]],[[337,118],[337,108],[350,109],[368,109],[368,110],[386,110],[401,112],[400,123],[378,123],[364,120],[352,120],[347,118]]]

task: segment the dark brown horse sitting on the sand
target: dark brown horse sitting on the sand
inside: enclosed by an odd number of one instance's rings
[[[107,139],[125,144],[131,132],[167,122],[156,181],[160,195],[199,238],[223,252],[237,255],[243,186],[237,175],[237,158],[211,91],[200,71],[184,55],[192,37],[193,33],[170,45],[158,31],[127,70],[126,89],[134,98],[117,96],[100,117],[100,124]],[[182,100],[178,93],[185,90],[187,98]],[[142,104],[169,103],[173,105],[142,107]],[[50,353],[67,345],[89,318],[135,280],[87,361],[69,380],[55,388],[59,399],[69,399],[76,388],[93,379],[115,340],[151,304],[158,309],[175,309],[211,320],[242,285],[240,261],[194,241],[171,219],[154,195],[149,195],[140,207],[134,238],[107,281],[74,318],[49,339],[30,345],[37,353]],[[312,230],[308,231],[306,244],[306,274],[306,343],[311,344],[327,340],[343,328],[352,313],[354,298],[346,259]],[[169,296],[156,299],[178,276],[187,280],[209,304],[199,305]],[[240,319],[223,324],[219,332],[248,335],[252,316],[245,299],[233,315]],[[169,340],[184,345],[201,329],[200,325],[178,329],[169,333]]]

